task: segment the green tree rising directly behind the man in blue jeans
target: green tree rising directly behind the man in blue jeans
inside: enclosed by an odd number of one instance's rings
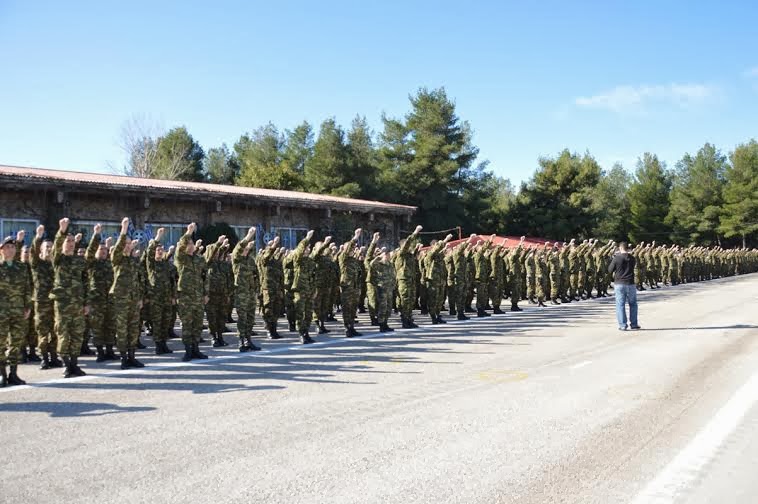
[[[597,216],[593,235],[602,240],[628,240],[631,226],[629,188],[632,177],[616,163],[600,177],[592,194],[592,211]]]

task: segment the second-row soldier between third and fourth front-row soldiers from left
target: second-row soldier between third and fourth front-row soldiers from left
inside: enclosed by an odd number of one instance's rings
[[[167,340],[176,305],[176,285],[171,264],[163,248],[165,233],[165,228],[159,228],[155,238],[150,240],[145,253],[147,285],[150,291],[150,320],[153,324],[156,355],[174,353],[168,347]]]

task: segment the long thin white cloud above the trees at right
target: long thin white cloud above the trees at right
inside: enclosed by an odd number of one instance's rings
[[[716,92],[715,87],[706,84],[616,86],[600,94],[576,98],[574,105],[610,110],[619,114],[641,113],[650,105],[687,108],[709,100]]]

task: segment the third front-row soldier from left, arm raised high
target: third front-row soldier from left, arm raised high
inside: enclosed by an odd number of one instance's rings
[[[140,334],[140,310],[142,309],[142,283],[139,258],[134,257],[138,241],[129,240],[129,218],[121,221],[121,233],[111,250],[113,284],[109,294],[113,296],[116,313],[116,344],[121,355],[121,369],[145,367],[134,353]]]

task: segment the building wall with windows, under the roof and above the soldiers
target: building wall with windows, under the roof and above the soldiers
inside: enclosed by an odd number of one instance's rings
[[[387,243],[394,244],[406,221],[405,217],[388,214],[262,206],[235,198],[76,192],[67,191],[65,187],[4,189],[0,192],[0,233],[4,236],[23,228],[31,238],[37,223],[44,224],[52,231],[57,229],[58,220],[63,217],[71,219],[74,229],[85,236],[96,222],[106,224],[107,233],[117,233],[121,219],[129,217],[132,221],[130,234],[145,242],[162,226],[169,228],[170,241],[178,239],[182,229],[190,222],[196,222],[201,228],[226,223],[234,227],[238,235],[244,234],[250,226],[256,226],[259,246],[276,234],[282,236],[285,246],[294,246],[308,229],[317,230],[319,237],[332,235],[337,242],[341,242],[349,239],[357,227],[370,232],[379,231]],[[7,225],[3,226],[4,222]]]

